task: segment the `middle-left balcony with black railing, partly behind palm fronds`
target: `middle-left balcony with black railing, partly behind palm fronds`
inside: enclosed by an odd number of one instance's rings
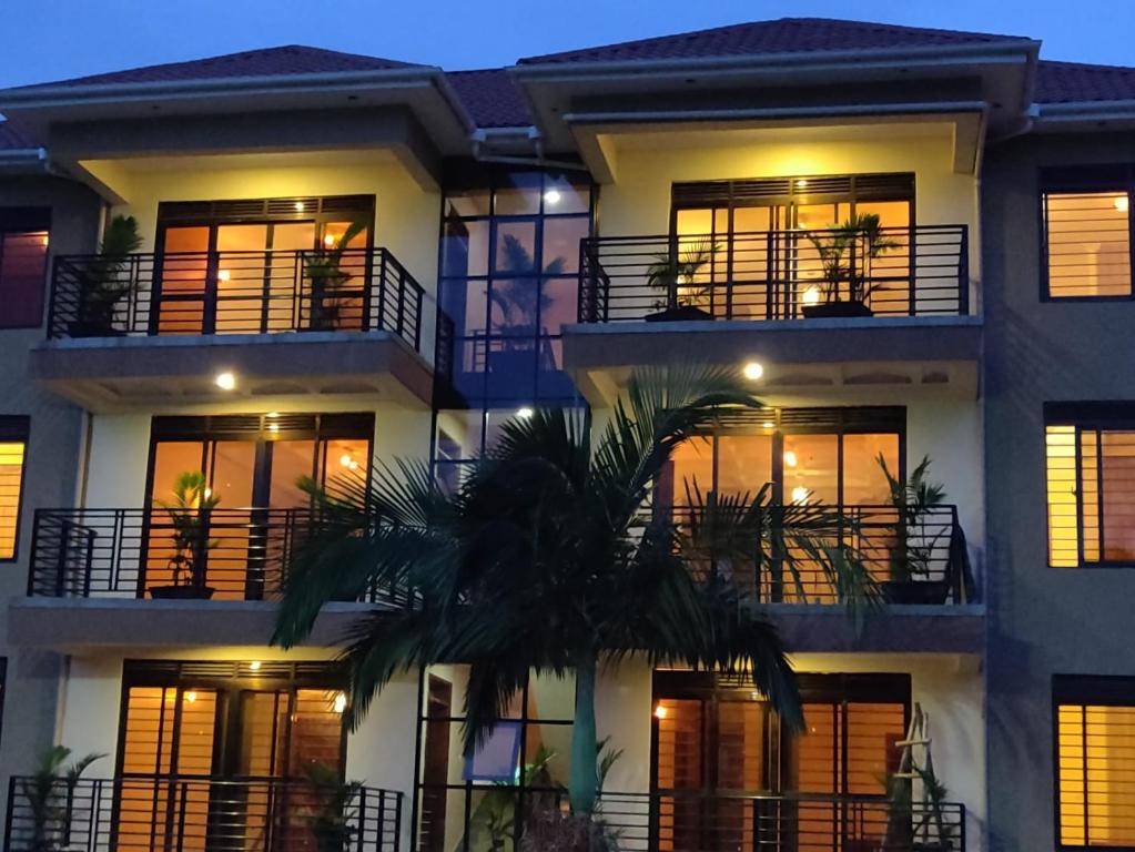
[[[84,633],[93,643],[267,643],[292,555],[318,524],[306,508],[217,507],[194,515],[192,529],[161,508],[36,509],[28,598],[12,604],[14,634],[59,647]],[[314,643],[404,601],[373,588],[333,604]],[[45,610],[68,617],[48,623]]]

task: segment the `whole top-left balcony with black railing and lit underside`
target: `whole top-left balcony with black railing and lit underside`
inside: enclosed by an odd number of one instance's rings
[[[386,248],[62,255],[31,372],[92,411],[249,396],[369,394],[428,405],[421,285]],[[232,393],[228,394],[232,396]]]

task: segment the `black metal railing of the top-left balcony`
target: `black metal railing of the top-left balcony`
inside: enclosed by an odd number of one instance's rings
[[[375,331],[421,347],[423,290],[386,248],[54,260],[48,335]]]

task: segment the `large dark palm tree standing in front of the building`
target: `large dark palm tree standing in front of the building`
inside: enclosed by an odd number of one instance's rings
[[[405,590],[410,606],[376,613],[345,638],[350,724],[398,672],[465,663],[466,753],[530,672],[574,672],[569,795],[586,817],[596,803],[600,661],[644,655],[654,666],[751,674],[785,725],[799,729],[796,680],[751,584],[691,570],[704,564],[707,543],[720,542],[715,558],[740,564],[757,542],[728,534],[713,542],[712,524],[691,524],[698,534],[690,535],[672,513],[649,511],[674,448],[712,427],[723,406],[760,403],[732,371],[645,372],[594,438],[589,414],[563,410],[507,423],[453,495],[435,487],[423,463],[376,465],[372,482],[338,480],[327,491],[303,483],[322,523],[292,567],[274,641],[302,641],[328,601],[376,585]],[[747,517],[767,509],[767,491],[757,500]],[[831,517],[796,517],[801,525],[789,538],[814,538],[813,552],[841,572],[854,562],[824,543]]]

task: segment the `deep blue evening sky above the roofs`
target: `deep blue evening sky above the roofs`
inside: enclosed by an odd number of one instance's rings
[[[0,87],[309,44],[447,70],[777,17],[1027,35],[1135,65],[1135,0],[0,0]]]

